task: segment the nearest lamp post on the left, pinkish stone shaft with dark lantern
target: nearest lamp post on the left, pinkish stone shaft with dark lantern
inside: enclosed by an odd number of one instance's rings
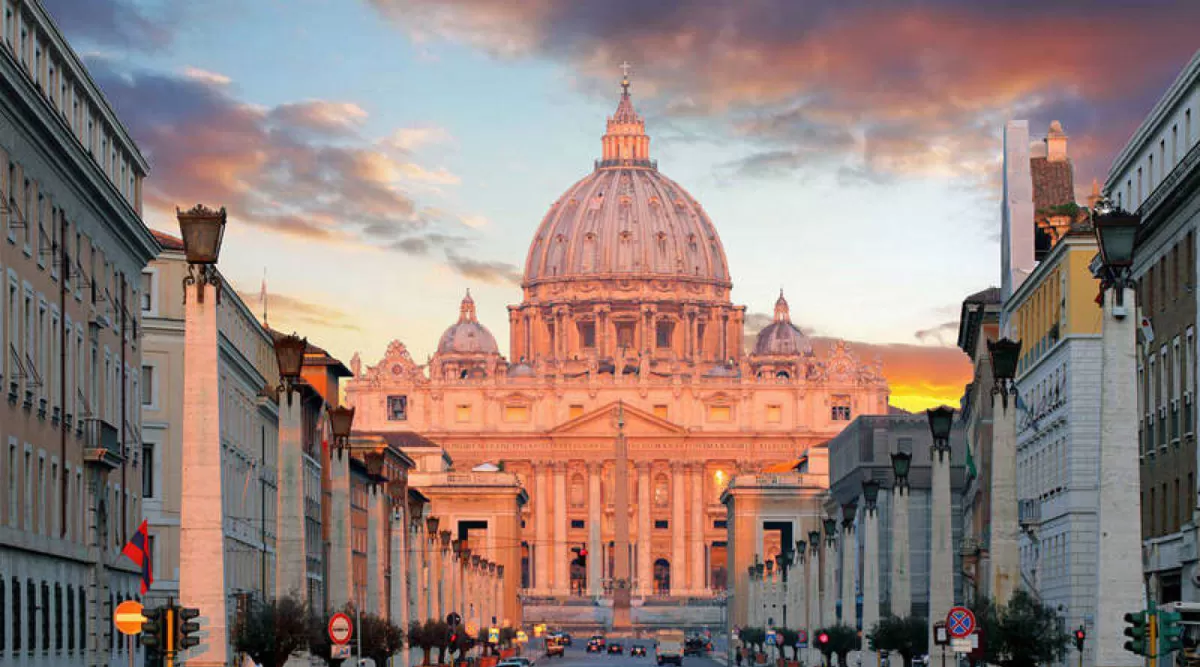
[[[208,619],[208,638],[187,650],[188,665],[223,666],[229,653],[226,599],[224,500],[221,455],[221,384],[216,264],[226,211],[202,205],[178,211],[187,276],[184,278],[184,415],[180,475],[179,593],[184,606]],[[185,657],[185,656],[181,656]]]

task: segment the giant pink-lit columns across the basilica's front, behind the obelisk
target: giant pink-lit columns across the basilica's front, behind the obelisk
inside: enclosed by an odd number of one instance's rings
[[[587,589],[589,596],[605,594],[607,578],[607,545],[612,540],[611,512],[602,497],[604,465],[608,459],[584,462],[586,480],[586,541],[576,543],[569,535],[571,505],[568,499],[566,461],[533,462],[533,534],[530,546],[530,593],[546,596],[571,595],[569,565],[575,557],[574,547],[586,547],[590,554],[587,563]],[[659,505],[660,515],[666,515],[670,524],[670,548],[655,551],[654,509],[655,499],[652,486],[654,465],[652,461],[632,462],[636,477],[636,492],[630,493],[635,503],[634,525],[636,530],[630,543],[630,563],[634,564],[634,593],[640,596],[654,595],[654,563],[659,558],[667,559],[671,567],[670,595],[703,596],[710,591],[708,567],[706,563],[707,541],[707,503],[704,494],[704,464],[700,462],[671,462],[670,493],[667,507]],[[616,481],[613,482],[616,483]],[[576,507],[578,509],[578,507]]]

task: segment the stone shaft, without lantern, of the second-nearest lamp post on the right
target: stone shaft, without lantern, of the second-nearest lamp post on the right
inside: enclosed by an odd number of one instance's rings
[[[988,555],[991,596],[1004,606],[1021,585],[1020,534],[1016,516],[1016,401],[991,395],[991,513]],[[1139,552],[1140,553],[1140,552]]]

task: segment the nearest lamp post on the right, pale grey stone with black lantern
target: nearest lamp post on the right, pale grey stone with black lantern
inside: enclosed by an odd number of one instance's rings
[[[1138,397],[1135,322],[1127,317],[1134,302],[1133,257],[1140,220],[1108,202],[1092,217],[1100,246],[1093,274],[1103,295],[1100,377],[1100,498],[1096,554],[1096,665],[1140,663],[1122,649],[1122,613],[1142,605],[1141,497],[1138,463]]]

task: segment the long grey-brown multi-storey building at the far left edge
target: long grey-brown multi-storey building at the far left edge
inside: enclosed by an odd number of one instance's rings
[[[122,665],[146,162],[40,2],[0,0],[0,663]]]

